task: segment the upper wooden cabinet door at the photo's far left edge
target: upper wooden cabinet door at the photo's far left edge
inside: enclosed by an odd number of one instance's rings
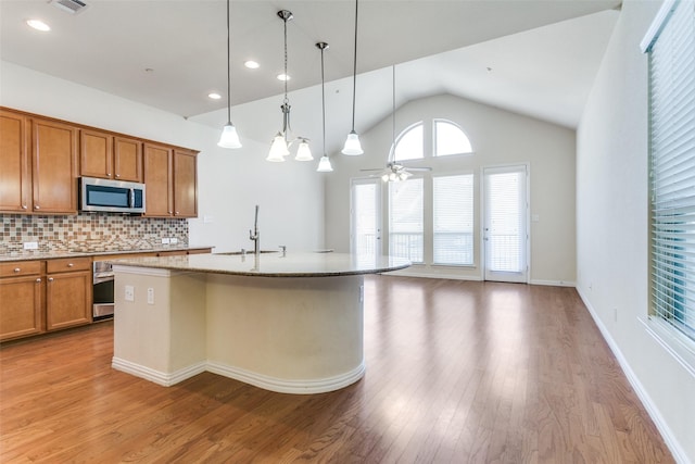
[[[26,117],[0,110],[0,211],[31,211]]]

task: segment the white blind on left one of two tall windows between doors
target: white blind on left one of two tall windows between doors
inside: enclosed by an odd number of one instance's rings
[[[422,262],[422,179],[389,184],[389,254]]]

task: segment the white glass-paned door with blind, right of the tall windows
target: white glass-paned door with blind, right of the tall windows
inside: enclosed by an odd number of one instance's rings
[[[483,170],[484,279],[528,281],[527,166]]]

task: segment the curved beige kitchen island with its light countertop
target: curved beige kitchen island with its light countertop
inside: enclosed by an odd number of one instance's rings
[[[208,371],[286,393],[364,376],[364,275],[410,265],[316,252],[113,264],[114,368],[163,386]]]

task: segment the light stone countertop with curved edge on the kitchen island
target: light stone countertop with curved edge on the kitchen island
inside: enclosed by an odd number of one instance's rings
[[[395,256],[365,256],[350,253],[281,252],[241,254],[190,254],[185,256],[114,260],[114,266],[161,268],[179,272],[231,274],[256,277],[329,277],[377,274],[408,267],[408,260]],[[117,272],[117,269],[116,269]]]

